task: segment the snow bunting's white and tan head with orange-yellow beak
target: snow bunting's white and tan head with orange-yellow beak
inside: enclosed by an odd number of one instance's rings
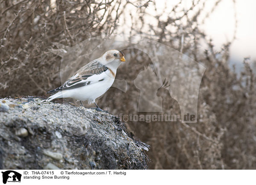
[[[104,64],[112,63],[112,62],[125,62],[125,55],[122,51],[118,51],[116,49],[109,50],[102,55],[101,62]]]

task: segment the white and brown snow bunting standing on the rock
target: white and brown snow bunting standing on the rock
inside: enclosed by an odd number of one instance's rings
[[[74,98],[80,102],[87,100],[89,103],[95,103],[99,108],[95,99],[111,87],[116,77],[116,69],[122,62],[125,62],[122,51],[109,50],[98,59],[84,65],[63,85],[48,91],[47,94],[55,94],[41,102],[49,102],[56,98]]]

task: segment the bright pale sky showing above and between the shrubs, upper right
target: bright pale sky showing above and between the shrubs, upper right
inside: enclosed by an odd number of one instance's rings
[[[207,0],[205,9],[201,15],[205,17],[210,12],[217,0]],[[157,0],[157,10],[162,11],[164,3],[167,2],[171,10],[179,0]],[[183,0],[182,6],[188,9],[192,0]],[[150,9],[150,6],[148,7]],[[212,38],[216,50],[222,44],[232,40],[235,30],[235,10],[237,17],[236,40],[230,47],[230,62],[236,64],[236,71],[240,71],[244,57],[251,57],[256,60],[256,0],[222,0],[215,10],[209,14],[201,28],[208,38]],[[153,12],[153,11],[152,11]],[[163,13],[164,17],[164,13]]]

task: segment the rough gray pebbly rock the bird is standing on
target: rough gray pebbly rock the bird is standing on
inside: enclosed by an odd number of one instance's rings
[[[1,169],[146,169],[143,150],[115,116],[38,97],[0,99]],[[3,108],[4,107],[4,108]]]

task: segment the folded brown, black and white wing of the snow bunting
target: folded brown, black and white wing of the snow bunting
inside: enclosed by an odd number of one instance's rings
[[[84,65],[81,69],[79,69],[76,74],[70,77],[70,79],[68,79],[63,85],[51,91],[48,91],[47,94],[52,94],[62,90],[79,88],[85,85],[95,83],[93,81],[93,78],[90,78],[90,80],[88,78],[92,77],[93,75],[101,74],[107,70],[108,67],[102,65],[97,60],[93,60],[92,62]]]

